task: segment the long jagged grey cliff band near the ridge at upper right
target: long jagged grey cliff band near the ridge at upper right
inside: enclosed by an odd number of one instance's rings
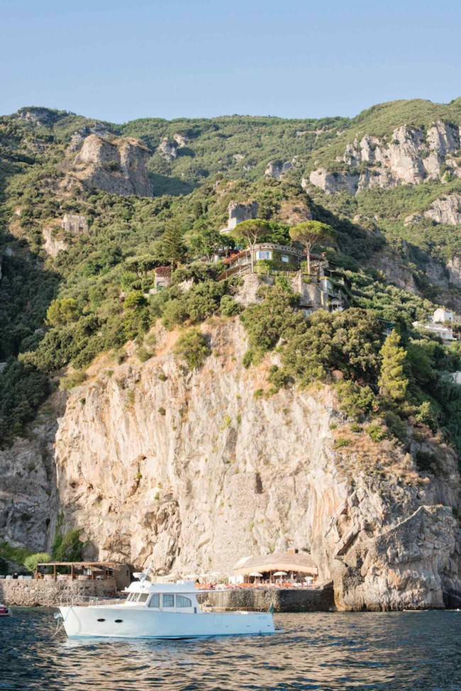
[[[328,193],[356,194],[373,187],[440,180],[446,172],[460,177],[459,153],[460,131],[451,123],[439,120],[427,132],[402,125],[394,130],[389,142],[367,134],[360,141],[356,138],[338,160],[345,170],[318,168],[309,180]]]

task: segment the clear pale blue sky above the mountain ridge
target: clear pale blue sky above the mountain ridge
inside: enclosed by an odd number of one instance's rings
[[[352,116],[461,95],[454,0],[0,0],[0,113]]]

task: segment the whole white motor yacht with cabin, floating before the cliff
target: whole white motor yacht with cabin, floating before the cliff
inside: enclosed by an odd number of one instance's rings
[[[152,583],[148,571],[127,588],[121,604],[60,607],[70,638],[184,639],[198,636],[274,634],[270,612],[204,612],[194,583]]]

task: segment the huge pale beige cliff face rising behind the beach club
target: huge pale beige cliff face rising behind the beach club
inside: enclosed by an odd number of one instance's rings
[[[436,478],[391,441],[378,453],[367,435],[357,450],[335,448],[328,387],[255,397],[270,363],[243,368],[242,326],[204,330],[213,355],[200,371],[172,358],[170,334],[147,363],[100,369],[73,390],[57,487],[87,556],[228,573],[243,556],[296,546],[321,580],[333,577],[340,609],[443,607],[444,592],[461,595],[452,451],[439,448]]]

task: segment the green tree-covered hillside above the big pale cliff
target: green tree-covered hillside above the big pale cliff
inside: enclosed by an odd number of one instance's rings
[[[67,387],[82,381],[99,353],[123,360],[125,344],[135,341],[138,357],[149,358],[155,344],[148,331],[156,319],[172,328],[238,315],[235,280],[217,281],[220,266],[204,262],[204,255],[225,244],[218,230],[226,224],[228,204],[256,201],[258,216],[267,222],[266,240],[290,243],[289,226],[299,222],[290,219],[299,214],[333,228],[335,241],[316,249],[345,272],[352,309],[306,320],[281,280],[262,309],[248,307],[241,315],[252,343],[248,364],[283,338],[284,365],[273,372],[274,390],[329,380],[333,370],[341,370],[349,382],[345,409],[355,410],[355,416],[376,417],[379,424],[387,419],[389,433],[401,441],[419,420],[426,433],[450,429],[457,443],[461,394],[447,372],[461,368],[460,349],[442,346],[412,323],[426,319],[437,304],[460,302],[459,288],[426,275],[431,262],[443,270],[444,262],[461,253],[459,228],[428,219],[405,226],[404,220],[441,194],[461,192],[461,181],[401,184],[354,197],[318,189],[307,194],[300,182],[322,161],[334,162],[358,133],[384,138],[402,124],[427,127],[438,118],[459,123],[460,109],[461,99],[446,106],[415,100],[380,104],[352,120],[226,116],[114,125],[30,107],[0,118],[0,361],[8,362],[0,374],[4,442],[26,433],[59,381]],[[72,137],[80,133],[83,140],[91,132],[136,138],[148,146],[153,197],[120,197],[84,183],[67,184],[75,156]],[[162,141],[174,146],[176,157],[165,159],[158,150]],[[265,177],[268,162],[291,160],[283,179]],[[112,162],[105,165],[109,170]],[[57,228],[65,213],[85,216],[89,231],[67,238],[67,249],[53,257],[45,252],[44,231]],[[413,292],[384,276],[383,257],[404,267]],[[172,287],[152,295],[153,269],[165,263],[179,265]],[[184,278],[194,279],[187,294],[178,287]],[[395,400],[384,396],[379,383],[384,355],[378,320],[396,324],[407,353],[404,396]]]

